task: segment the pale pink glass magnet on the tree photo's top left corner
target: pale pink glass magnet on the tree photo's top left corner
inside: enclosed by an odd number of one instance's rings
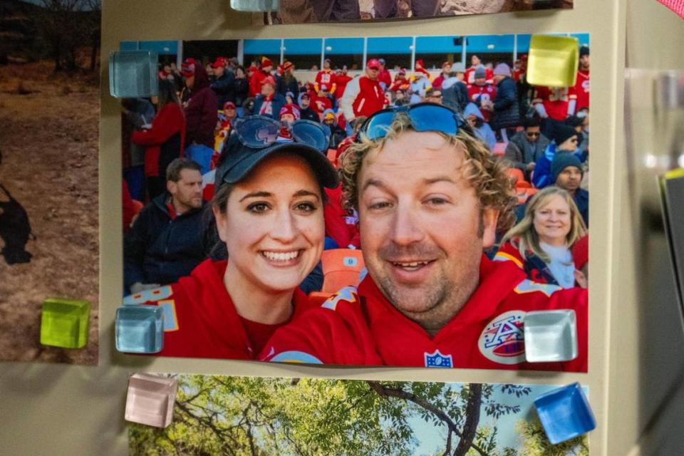
[[[174,378],[136,373],[128,380],[125,420],[167,427],[173,418],[178,382]]]

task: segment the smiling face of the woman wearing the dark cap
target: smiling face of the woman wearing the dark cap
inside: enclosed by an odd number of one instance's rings
[[[299,286],[321,259],[325,227],[320,186],[296,155],[270,157],[234,185],[217,213],[228,251],[227,283],[266,293]]]

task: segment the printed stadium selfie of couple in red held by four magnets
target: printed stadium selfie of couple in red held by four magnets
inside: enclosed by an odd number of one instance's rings
[[[527,82],[529,35],[121,43],[160,56],[121,101],[124,305],[162,307],[157,354],[586,372],[572,38],[562,88]]]

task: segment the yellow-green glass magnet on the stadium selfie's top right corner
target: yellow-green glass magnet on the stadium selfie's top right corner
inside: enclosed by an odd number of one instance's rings
[[[579,65],[579,41],[571,36],[532,35],[527,82],[533,86],[572,87]]]

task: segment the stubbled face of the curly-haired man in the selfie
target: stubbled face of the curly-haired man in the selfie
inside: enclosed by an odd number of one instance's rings
[[[438,331],[479,282],[497,211],[480,209],[465,154],[437,133],[407,132],[372,150],[358,176],[363,257],[401,313]]]

